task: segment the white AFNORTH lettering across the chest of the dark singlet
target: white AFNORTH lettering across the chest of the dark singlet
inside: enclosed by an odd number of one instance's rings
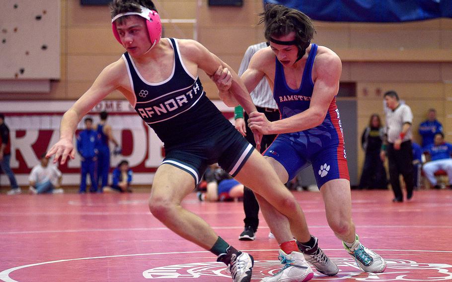
[[[202,91],[199,91],[199,85],[197,81],[193,83],[191,88],[192,89],[190,89],[190,91],[186,92],[185,94],[176,96],[164,102],[160,103],[157,102],[158,104],[152,105],[151,107],[146,108],[137,107],[137,110],[142,116],[142,118],[151,118],[153,115],[160,116],[162,114],[172,112],[193,100],[198,95],[198,92],[202,93]],[[162,97],[159,97],[156,98],[155,100],[161,100],[161,98]]]

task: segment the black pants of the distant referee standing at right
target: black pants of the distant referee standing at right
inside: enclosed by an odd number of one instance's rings
[[[389,162],[389,182],[394,192],[394,200],[403,201],[403,193],[400,189],[399,175],[403,176],[406,185],[408,198],[413,195],[414,175],[413,175],[413,148],[411,141],[402,142],[400,150],[394,149],[394,144],[389,143],[387,147],[387,157]]]

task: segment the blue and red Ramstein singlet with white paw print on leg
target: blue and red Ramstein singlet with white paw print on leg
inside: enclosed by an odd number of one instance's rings
[[[292,89],[287,85],[284,68],[278,58],[275,59],[273,97],[282,119],[309,108],[314,89],[311,71],[316,53],[317,45],[312,44],[299,89]],[[319,188],[332,179],[350,180],[336,97],[331,101],[322,124],[304,131],[278,135],[264,155],[276,159],[284,166],[289,174],[288,180],[293,179],[309,164],[312,164]]]

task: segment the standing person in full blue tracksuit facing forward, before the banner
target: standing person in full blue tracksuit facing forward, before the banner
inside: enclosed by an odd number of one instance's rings
[[[89,192],[97,192],[97,148],[100,145],[100,136],[92,128],[92,119],[85,118],[85,130],[77,137],[77,151],[81,159],[81,181],[79,193],[86,193],[86,175],[89,173],[91,187]]]

